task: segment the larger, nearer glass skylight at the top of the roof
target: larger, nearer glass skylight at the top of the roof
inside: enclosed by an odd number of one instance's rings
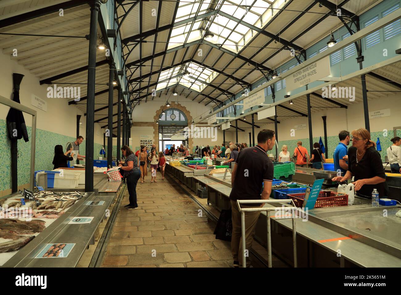
[[[215,35],[209,42],[237,53],[257,33],[249,26],[262,28],[279,11],[269,8],[281,8],[284,3],[285,0],[273,2],[271,0],[218,0],[215,6],[210,6],[215,9],[215,14],[208,18],[199,18],[174,27],[168,49],[201,40],[205,35],[205,29],[207,29]],[[208,0],[180,2],[176,23],[205,14],[208,12],[209,5],[211,4]],[[245,24],[230,19],[231,16],[239,20],[242,18]]]

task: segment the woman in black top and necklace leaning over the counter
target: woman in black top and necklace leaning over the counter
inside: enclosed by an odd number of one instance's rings
[[[377,189],[379,197],[389,195],[381,156],[375,149],[368,130],[360,128],[352,131],[352,146],[348,149],[348,171],[332,181],[346,181],[354,176],[355,191],[358,195],[371,197]]]

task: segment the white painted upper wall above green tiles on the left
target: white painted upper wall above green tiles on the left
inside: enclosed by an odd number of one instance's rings
[[[24,69],[15,60],[12,60],[11,55],[0,53],[0,64],[2,65],[0,95],[5,98],[12,98],[12,73],[25,75],[20,86],[20,102],[22,105],[37,111],[36,128],[75,137],[77,132],[77,115],[82,115],[80,135],[85,138],[86,117],[83,116],[83,113],[78,108],[73,105],[69,106],[67,99],[64,98],[47,98],[47,87],[50,85],[40,85],[39,78],[29,73],[28,70]],[[65,70],[68,71],[69,69]],[[47,112],[31,105],[31,94],[35,94],[47,102]],[[81,96],[86,96],[86,93],[81,93]],[[9,108],[3,105],[0,107],[1,119],[6,119],[8,110]],[[24,118],[26,125],[31,126],[32,116],[24,114]],[[95,123],[94,133],[94,142],[103,144],[103,130],[98,123]],[[64,145],[65,143],[61,144]]]

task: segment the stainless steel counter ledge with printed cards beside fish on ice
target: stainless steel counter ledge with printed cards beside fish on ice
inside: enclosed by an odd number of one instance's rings
[[[17,196],[18,194],[15,194]],[[11,196],[13,197],[13,195]],[[101,205],[87,205],[88,201],[103,201]],[[77,201],[43,232],[12,256],[3,267],[75,267],[85,249],[95,243],[99,224],[105,219],[112,199],[93,192]],[[75,217],[93,217],[90,224],[69,224]],[[74,244],[66,257],[35,258],[47,244]]]

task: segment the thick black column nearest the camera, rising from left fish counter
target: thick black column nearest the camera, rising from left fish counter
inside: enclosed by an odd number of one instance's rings
[[[91,22],[89,29],[89,58],[86,100],[86,144],[85,144],[85,191],[93,191],[93,149],[95,121],[95,75],[96,75],[96,42],[97,17],[100,11],[100,1],[89,2],[91,5]]]

